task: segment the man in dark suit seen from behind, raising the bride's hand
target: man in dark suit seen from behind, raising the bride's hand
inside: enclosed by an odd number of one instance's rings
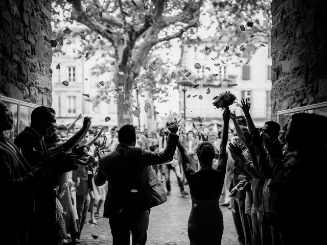
[[[147,241],[150,203],[148,166],[166,163],[173,158],[178,141],[178,126],[167,124],[170,134],[163,153],[134,147],[135,128],[123,126],[118,132],[119,144],[115,151],[102,157],[95,176],[98,186],[108,181],[104,217],[109,218],[113,245],[144,245]]]

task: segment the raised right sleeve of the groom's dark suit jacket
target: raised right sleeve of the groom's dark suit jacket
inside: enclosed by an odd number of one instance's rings
[[[155,165],[168,162],[174,156],[177,142],[178,135],[170,133],[168,135],[167,146],[164,152],[150,152],[146,149],[142,149],[143,162],[146,165]]]

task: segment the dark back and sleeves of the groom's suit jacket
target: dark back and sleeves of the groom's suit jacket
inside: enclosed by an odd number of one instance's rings
[[[100,159],[95,183],[101,186],[108,181],[104,217],[113,213],[135,213],[150,209],[148,166],[172,159],[177,141],[178,135],[170,133],[166,149],[161,153],[120,143],[115,151]]]

